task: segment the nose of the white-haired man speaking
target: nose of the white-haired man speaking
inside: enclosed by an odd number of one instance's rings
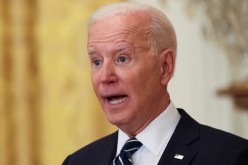
[[[116,69],[114,64],[111,62],[104,63],[101,68],[101,83],[103,84],[113,84],[117,82]]]

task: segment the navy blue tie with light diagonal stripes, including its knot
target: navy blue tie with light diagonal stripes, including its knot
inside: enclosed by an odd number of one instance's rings
[[[136,138],[126,141],[120,154],[114,159],[113,165],[132,165],[131,156],[142,146],[142,143]]]

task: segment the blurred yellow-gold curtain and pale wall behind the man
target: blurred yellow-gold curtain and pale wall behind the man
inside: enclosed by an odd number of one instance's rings
[[[90,82],[87,19],[118,0],[0,1],[0,164],[56,165],[116,130]],[[178,38],[169,91],[203,124],[248,138],[248,1],[130,0]]]

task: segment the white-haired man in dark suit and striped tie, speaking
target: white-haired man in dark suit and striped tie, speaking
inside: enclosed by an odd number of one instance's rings
[[[68,156],[63,165],[248,165],[247,140],[201,125],[174,107],[167,86],[176,49],[170,21],[152,7],[117,3],[93,14],[92,84],[119,130]]]

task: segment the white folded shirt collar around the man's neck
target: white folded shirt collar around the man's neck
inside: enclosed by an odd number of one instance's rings
[[[153,154],[158,155],[163,146],[167,145],[179,119],[179,112],[174,104],[170,102],[168,107],[140,132],[136,138]],[[122,130],[118,131],[117,155],[128,139],[128,135]]]

